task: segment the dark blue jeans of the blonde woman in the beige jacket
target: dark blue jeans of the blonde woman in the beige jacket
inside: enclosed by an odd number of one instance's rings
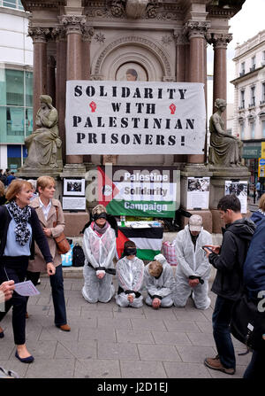
[[[27,280],[31,280],[34,285],[37,284],[39,277],[40,272],[27,271]],[[62,264],[56,267],[55,275],[49,276],[49,283],[51,286],[51,295],[55,313],[54,322],[56,326],[62,326],[63,324],[67,323]]]

